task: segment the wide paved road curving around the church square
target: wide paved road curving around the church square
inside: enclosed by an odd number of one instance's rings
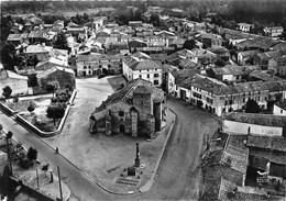
[[[174,132],[153,187],[148,192],[134,196],[118,196],[103,191],[61,155],[56,155],[37,135],[23,129],[2,112],[0,123],[6,131],[12,131],[26,147],[35,147],[40,153],[40,160],[61,167],[64,182],[73,192],[70,200],[197,200],[197,166],[202,136],[204,133],[213,133],[217,122],[207,112],[187,109],[185,102],[174,99],[167,102],[169,109],[177,113]]]

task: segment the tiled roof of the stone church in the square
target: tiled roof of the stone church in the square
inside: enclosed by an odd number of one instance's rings
[[[138,92],[151,92],[152,99],[154,101],[162,101],[164,99],[164,92],[161,89],[157,89],[156,87],[154,87],[151,82],[143,80],[143,79],[135,79],[132,80],[130,82],[128,82],[128,85],[113,92],[111,96],[108,97],[108,99],[106,101],[102,102],[102,104],[100,107],[98,107],[95,111],[96,112],[100,112],[102,110],[105,110],[107,108],[107,105],[117,103],[119,101],[122,101],[127,104],[131,104],[132,103],[129,101],[129,94],[133,93],[136,88]]]

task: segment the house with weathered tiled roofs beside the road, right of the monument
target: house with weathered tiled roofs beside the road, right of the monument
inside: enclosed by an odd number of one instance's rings
[[[205,187],[200,200],[230,200],[227,192],[234,191],[233,197],[248,192],[240,192],[245,186],[248,171],[249,149],[243,144],[245,138],[223,132],[213,134],[200,164]],[[252,190],[252,193],[255,193],[255,190]]]

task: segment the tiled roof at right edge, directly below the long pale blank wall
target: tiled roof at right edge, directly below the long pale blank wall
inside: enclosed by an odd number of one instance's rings
[[[279,152],[286,153],[286,138],[285,137],[265,136],[265,135],[249,135],[246,145],[250,147],[266,148],[266,149],[279,150]]]

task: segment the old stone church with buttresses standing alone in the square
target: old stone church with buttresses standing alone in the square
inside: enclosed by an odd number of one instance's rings
[[[90,133],[153,137],[162,127],[164,92],[143,79],[134,79],[108,97],[91,113]]]

